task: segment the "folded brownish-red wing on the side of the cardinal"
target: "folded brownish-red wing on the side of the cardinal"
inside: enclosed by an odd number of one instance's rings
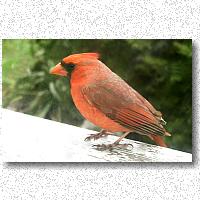
[[[108,84],[85,86],[82,88],[82,94],[91,105],[130,130],[143,135],[165,135],[166,131],[159,120],[145,105],[138,103],[140,101],[137,95],[133,95],[135,99],[131,101],[130,96]]]

